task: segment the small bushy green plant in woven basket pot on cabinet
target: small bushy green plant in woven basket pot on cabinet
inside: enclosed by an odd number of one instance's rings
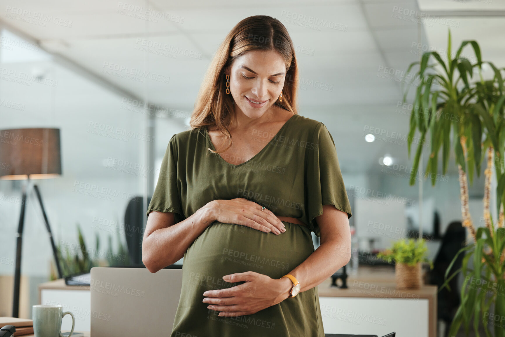
[[[394,279],[396,289],[419,289],[422,282],[422,262],[433,263],[428,260],[426,253],[428,248],[424,239],[402,239],[393,243],[390,249],[386,249],[377,257],[388,263],[394,260]]]

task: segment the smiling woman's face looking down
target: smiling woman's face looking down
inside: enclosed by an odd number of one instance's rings
[[[286,66],[277,52],[250,51],[237,58],[225,74],[230,76],[235,113],[241,111],[249,118],[259,118],[279,98]]]

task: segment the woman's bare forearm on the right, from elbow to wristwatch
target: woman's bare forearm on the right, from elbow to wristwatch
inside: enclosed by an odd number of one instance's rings
[[[300,293],[328,279],[350,260],[350,247],[341,236],[322,240],[321,245],[289,274],[300,282]],[[289,284],[288,284],[289,285]],[[292,285],[292,283],[291,283]]]

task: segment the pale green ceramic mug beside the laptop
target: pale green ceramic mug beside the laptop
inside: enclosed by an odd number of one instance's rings
[[[63,316],[72,316],[72,330],[74,332],[75,317],[70,311],[63,312],[61,305],[37,304],[33,306],[33,333],[35,337],[64,337],[61,333]]]

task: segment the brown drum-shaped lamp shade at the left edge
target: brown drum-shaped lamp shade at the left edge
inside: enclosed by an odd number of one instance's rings
[[[0,130],[0,179],[55,178],[62,173],[60,129]]]

